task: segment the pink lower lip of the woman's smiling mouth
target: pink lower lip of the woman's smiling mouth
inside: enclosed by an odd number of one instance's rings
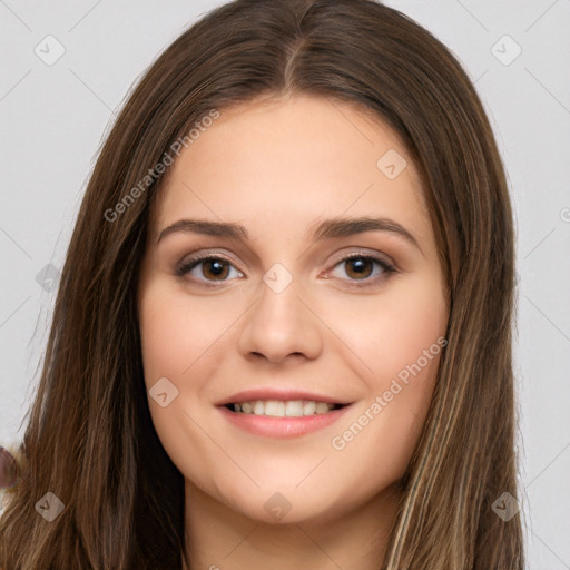
[[[316,432],[336,422],[350,405],[333,410],[325,414],[304,415],[302,417],[271,417],[267,415],[244,414],[232,412],[225,406],[219,411],[236,428],[265,438],[298,438]]]

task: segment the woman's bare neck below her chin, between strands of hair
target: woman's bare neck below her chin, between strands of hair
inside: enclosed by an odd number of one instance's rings
[[[401,490],[392,485],[341,518],[271,524],[256,521],[185,485],[184,570],[296,570],[382,566]]]

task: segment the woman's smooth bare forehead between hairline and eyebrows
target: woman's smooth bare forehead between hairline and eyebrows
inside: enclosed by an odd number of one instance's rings
[[[316,97],[220,110],[170,167],[156,206],[154,235],[185,215],[240,220],[263,238],[343,214],[390,216],[419,239],[430,234],[420,177],[397,134],[354,105]]]

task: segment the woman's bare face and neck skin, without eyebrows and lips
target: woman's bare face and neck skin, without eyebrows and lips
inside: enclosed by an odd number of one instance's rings
[[[377,166],[390,149],[407,163],[394,179]],[[381,230],[306,236],[335,216],[391,218],[417,246]],[[164,228],[190,217],[242,224],[249,239],[173,232],[157,243]],[[346,102],[248,102],[223,110],[180,154],[150,224],[138,292],[145,382],[151,389],[167,377],[178,390],[165,407],[154,397],[149,406],[185,476],[193,568],[379,568],[439,354],[407,384],[399,382],[380,413],[371,405],[406,365],[439,346],[449,317],[406,148],[386,124]],[[177,276],[178,264],[198,252],[223,258],[218,273],[203,263]],[[351,253],[396,271],[364,259],[357,273],[343,262]],[[293,278],[279,293],[263,281],[276,263]],[[352,405],[316,432],[261,436],[230,424],[215,405],[254,386],[308,390]],[[366,410],[367,424],[343,439]],[[281,520],[264,507],[272,497],[291,509]]]

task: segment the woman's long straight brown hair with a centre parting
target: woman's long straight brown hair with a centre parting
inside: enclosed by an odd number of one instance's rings
[[[213,109],[283,94],[357,105],[399,132],[449,286],[448,345],[383,569],[523,568],[520,514],[492,509],[518,497],[511,205],[472,83],[431,33],[373,0],[237,0],[155,61],[100,150],[0,521],[3,569],[181,568],[184,479],[151,423],[136,299],[163,177],[140,181]],[[48,492],[63,504],[51,522],[35,508]]]

